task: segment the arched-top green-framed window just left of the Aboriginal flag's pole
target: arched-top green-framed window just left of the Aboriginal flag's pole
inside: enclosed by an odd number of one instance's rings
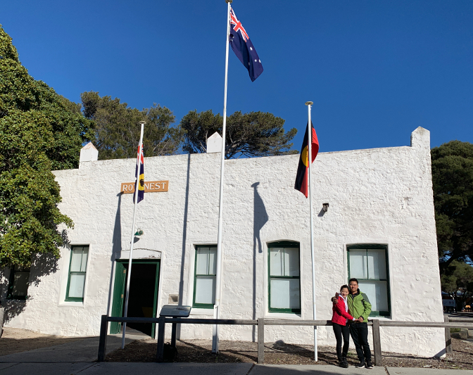
[[[299,243],[268,244],[269,311],[301,312]]]

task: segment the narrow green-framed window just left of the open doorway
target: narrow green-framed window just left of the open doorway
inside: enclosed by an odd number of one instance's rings
[[[84,300],[85,273],[89,258],[89,246],[72,246],[70,250],[68,290],[65,293],[66,301]]]

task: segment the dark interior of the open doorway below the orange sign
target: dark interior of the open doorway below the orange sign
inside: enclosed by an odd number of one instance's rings
[[[124,264],[127,274],[125,275],[125,298],[126,280],[128,277],[128,263]],[[156,303],[156,264],[133,264],[132,277],[130,279],[130,298],[128,300],[129,317],[153,317],[153,307]],[[122,316],[125,313],[123,303]],[[151,336],[153,324],[128,323],[127,327],[136,329]]]

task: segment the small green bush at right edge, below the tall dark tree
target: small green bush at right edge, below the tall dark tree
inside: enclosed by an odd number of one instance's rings
[[[457,309],[473,295],[473,267],[453,260],[441,277],[442,291],[455,299]]]

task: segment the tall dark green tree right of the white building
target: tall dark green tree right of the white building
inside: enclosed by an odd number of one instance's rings
[[[450,141],[432,148],[437,243],[441,270],[473,260],[473,144]]]

